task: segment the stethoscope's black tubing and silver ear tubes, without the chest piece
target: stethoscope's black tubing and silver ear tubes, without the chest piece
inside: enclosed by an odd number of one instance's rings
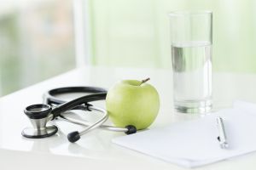
[[[71,101],[65,101],[58,99],[56,96],[58,94],[69,94],[69,93],[89,93],[89,95],[84,95],[77,99],[73,99]],[[90,132],[96,128],[101,128],[108,131],[113,132],[123,132],[126,134],[132,134],[137,132],[137,128],[133,125],[127,125],[126,127],[113,127],[108,125],[103,125],[104,122],[108,120],[108,111],[96,107],[94,105],[90,105],[90,102],[104,100],[107,96],[107,90],[104,88],[97,87],[66,87],[66,88],[55,88],[51,89],[44,94],[44,104],[50,105],[53,107],[51,111],[51,115],[49,117],[50,120],[54,120],[55,118],[62,119],[67,122],[72,122],[81,126],[84,126],[84,130],[82,131],[74,131],[72,133],[67,134],[67,139],[70,142],[76,142],[80,139],[82,135]],[[84,120],[77,120],[68,116],[65,116],[64,113],[67,111],[80,110],[80,111],[98,111],[103,115],[96,122],[86,122]]]

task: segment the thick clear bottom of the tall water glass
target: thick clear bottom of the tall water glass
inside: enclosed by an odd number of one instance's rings
[[[175,101],[174,107],[177,112],[198,114],[198,113],[209,113],[212,111],[212,99],[200,100],[200,101]]]

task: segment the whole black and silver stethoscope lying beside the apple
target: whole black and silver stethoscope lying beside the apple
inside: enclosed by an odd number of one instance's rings
[[[61,94],[87,93],[77,99],[64,101],[56,96]],[[114,132],[124,132],[126,134],[136,133],[137,128],[133,125],[126,127],[113,127],[103,125],[108,120],[108,111],[91,105],[89,102],[106,99],[107,91],[104,88],[96,87],[66,87],[54,88],[44,94],[44,104],[29,105],[25,108],[24,113],[32,122],[32,127],[26,127],[22,131],[22,136],[30,139],[42,139],[54,135],[58,132],[58,127],[55,125],[47,125],[48,122],[55,119],[61,119],[67,122],[72,122],[84,126],[82,131],[74,131],[67,134],[67,139],[70,142],[76,142],[82,135],[96,128]],[[96,122],[86,122],[65,116],[67,111],[98,111],[102,113],[102,117]],[[75,114],[75,113],[74,113]]]

